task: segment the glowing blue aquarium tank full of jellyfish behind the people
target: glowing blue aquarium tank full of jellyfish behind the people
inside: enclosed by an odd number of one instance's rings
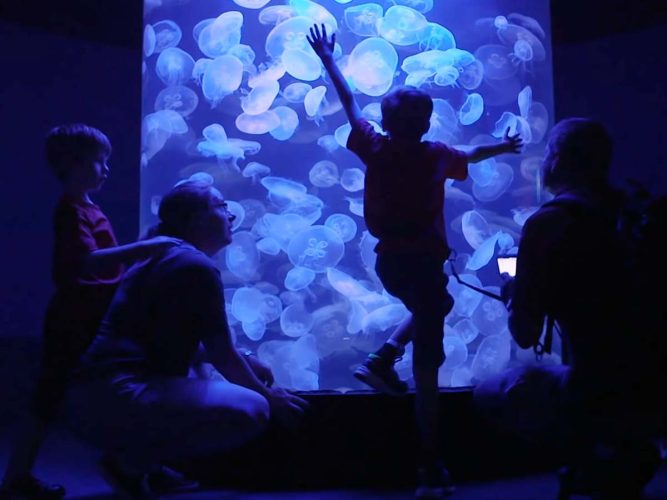
[[[366,388],[352,372],[409,312],[374,271],[364,166],[346,149],[350,125],[306,39],[314,23],[336,34],[334,57],[378,131],[383,96],[409,85],[433,97],[425,140],[465,150],[508,127],[521,134],[521,154],[471,164],[467,180],[443,186],[446,271],[498,293],[496,257],[516,250],[545,196],[549,2],[145,0],[141,228],[175,184],[213,184],[236,216],[215,257],[236,344],[279,386],[347,392]],[[448,289],[441,387],[535,362],[512,340],[502,302],[451,277]],[[542,362],[560,362],[558,340]],[[412,384],[410,345],[396,369]]]

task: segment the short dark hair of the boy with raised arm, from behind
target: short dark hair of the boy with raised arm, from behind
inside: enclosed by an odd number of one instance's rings
[[[380,105],[382,128],[390,136],[421,138],[428,132],[433,99],[416,87],[400,87],[387,94]]]

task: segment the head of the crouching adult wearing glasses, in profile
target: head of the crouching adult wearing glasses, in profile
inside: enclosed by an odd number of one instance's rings
[[[220,191],[201,181],[186,181],[171,189],[160,202],[157,234],[181,238],[207,255],[232,241],[236,218]]]

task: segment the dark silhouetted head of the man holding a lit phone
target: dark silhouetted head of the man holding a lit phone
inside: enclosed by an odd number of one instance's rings
[[[612,144],[604,125],[567,118],[551,130],[542,163],[544,187],[602,189],[609,184]]]

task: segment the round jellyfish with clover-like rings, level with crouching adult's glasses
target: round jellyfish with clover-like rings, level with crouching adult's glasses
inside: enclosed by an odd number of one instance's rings
[[[307,267],[316,273],[338,264],[344,253],[343,240],[326,226],[312,226],[301,231],[292,238],[287,249],[294,266]]]

